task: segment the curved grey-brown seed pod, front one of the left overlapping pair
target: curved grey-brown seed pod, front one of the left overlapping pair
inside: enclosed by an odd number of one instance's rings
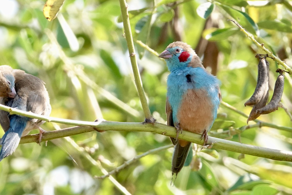
[[[256,57],[258,57],[258,55]],[[266,59],[260,58],[260,62],[258,63],[258,82],[256,89],[253,92],[251,98],[244,103],[244,106],[255,105],[260,102],[265,92],[266,83],[268,80],[268,72]]]

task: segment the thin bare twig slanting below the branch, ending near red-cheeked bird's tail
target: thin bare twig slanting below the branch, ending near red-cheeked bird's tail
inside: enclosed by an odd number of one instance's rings
[[[139,160],[140,158],[148,155],[148,154],[152,154],[152,153],[155,153],[155,152],[159,152],[161,150],[165,150],[165,149],[168,149],[168,148],[171,148],[173,147],[172,144],[170,145],[166,145],[166,146],[161,146],[159,148],[155,148],[155,149],[152,149],[152,150],[148,150],[147,152],[143,153],[143,154],[140,154],[140,155],[137,155],[135,156],[133,159],[131,160],[128,160],[126,161],[124,164],[122,164],[121,166],[115,168],[114,170],[110,171],[107,173],[107,175],[102,175],[102,176],[95,176],[95,178],[98,178],[98,179],[105,179],[106,177],[109,177],[110,175],[114,174],[114,173],[118,173],[120,172],[122,169],[124,169],[125,167],[131,165],[132,163],[136,162],[137,160]]]

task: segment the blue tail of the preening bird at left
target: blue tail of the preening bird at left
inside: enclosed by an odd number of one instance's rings
[[[0,141],[0,144],[2,145],[0,151],[0,161],[11,155],[16,150],[26,124],[27,117],[21,117],[19,115],[11,116],[10,127]]]

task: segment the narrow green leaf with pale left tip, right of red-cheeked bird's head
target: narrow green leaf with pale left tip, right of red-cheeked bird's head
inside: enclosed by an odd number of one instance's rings
[[[239,31],[239,28],[221,28],[213,31],[205,36],[206,40],[209,41],[219,41],[225,40],[226,38],[234,35]]]

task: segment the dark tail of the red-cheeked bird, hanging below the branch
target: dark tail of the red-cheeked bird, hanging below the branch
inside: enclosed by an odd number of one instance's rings
[[[179,140],[180,141],[180,140]],[[185,145],[185,144],[184,144]],[[172,175],[175,173],[178,175],[178,172],[183,168],[185,160],[187,159],[187,154],[189,153],[191,142],[187,142],[185,147],[180,146],[180,142],[174,146],[174,152],[172,155],[171,171]]]

